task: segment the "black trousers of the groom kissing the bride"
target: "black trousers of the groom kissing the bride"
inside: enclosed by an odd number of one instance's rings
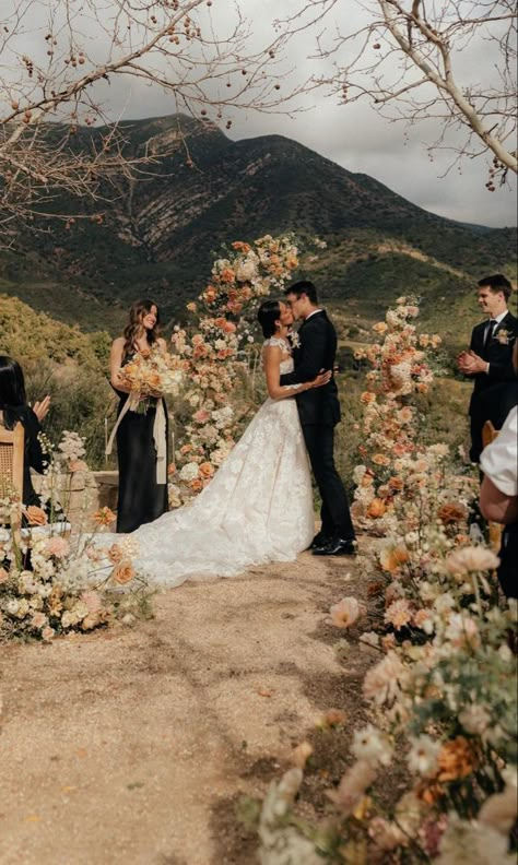
[[[349,511],[348,494],[334,465],[334,427],[327,424],[304,424],[303,435],[322,499],[321,532],[326,537],[352,541],[354,529]]]

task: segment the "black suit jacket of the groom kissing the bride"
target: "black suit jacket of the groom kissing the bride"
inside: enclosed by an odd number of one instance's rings
[[[281,376],[281,384],[301,384],[311,381],[321,369],[332,369],[337,355],[337,332],[323,309],[306,319],[297,332],[298,345],[293,348],[294,372]],[[334,426],[340,420],[340,403],[334,379],[321,388],[311,388],[296,395],[298,415],[303,426],[325,424]]]

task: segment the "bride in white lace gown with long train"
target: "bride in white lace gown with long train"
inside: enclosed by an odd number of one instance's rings
[[[330,374],[281,387],[293,370],[290,308],[268,300],[258,312],[269,396],[227,460],[191,505],[164,513],[126,537],[138,542],[136,568],[154,582],[234,577],[254,565],[293,561],[315,534],[309,463],[295,394],[320,387]],[[99,535],[98,543],[120,541]]]

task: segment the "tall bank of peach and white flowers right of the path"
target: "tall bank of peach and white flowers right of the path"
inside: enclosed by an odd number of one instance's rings
[[[363,400],[367,445],[357,478],[374,495],[357,500],[364,525],[377,534],[382,519],[385,532],[360,560],[368,604],[350,595],[330,611],[330,623],[348,635],[338,657],[362,651],[370,660],[362,685],[367,723],[353,731],[349,768],[327,791],[330,805],[318,826],[296,813],[313,748],[295,749],[296,767],[271,785],[260,811],[262,865],[509,865],[515,858],[516,604],[498,595],[495,553],[470,540],[476,483],[458,473],[445,446],[420,443],[416,411],[401,417],[408,407],[401,396],[431,382],[426,358],[414,353],[421,337],[404,323],[409,313],[415,317],[401,298],[387,329],[378,328],[391,336],[389,345],[386,339],[368,353],[376,391]],[[407,363],[401,342],[411,358],[395,389],[393,360]],[[373,452],[386,454],[387,464],[370,459]],[[375,500],[385,511],[369,514]],[[343,722],[340,709],[332,716],[323,735]],[[387,797],[392,773],[404,785]]]

